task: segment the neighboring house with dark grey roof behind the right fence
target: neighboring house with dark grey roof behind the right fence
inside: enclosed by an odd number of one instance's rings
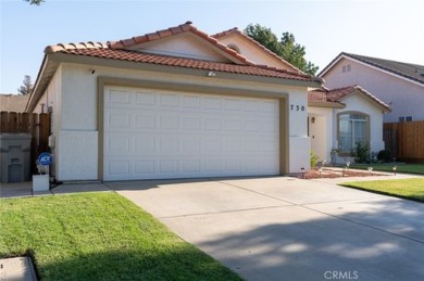
[[[385,123],[424,120],[424,66],[340,53],[320,74],[327,88],[360,85],[390,105]]]

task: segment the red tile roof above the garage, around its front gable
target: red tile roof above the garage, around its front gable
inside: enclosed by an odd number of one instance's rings
[[[187,58],[167,56],[161,54],[144,53],[140,51],[132,50],[144,42],[154,41],[170,36],[174,36],[182,33],[192,33],[221,51],[225,52],[229,58],[234,59],[234,63],[221,63],[203,60],[195,60]],[[250,39],[252,40],[252,39]],[[191,22],[187,22],[176,27],[170,27],[167,29],[159,30],[152,34],[146,34],[144,36],[132,37],[120,41],[109,41],[108,43],[101,42],[80,42],[80,43],[59,43],[55,46],[49,46],[45,50],[46,53],[65,53],[72,55],[93,56],[109,60],[129,61],[137,63],[148,63],[158,65],[167,65],[176,67],[196,68],[214,72],[225,72],[234,74],[245,74],[264,77],[285,78],[302,81],[315,81],[321,82],[316,77],[305,75],[300,72],[278,69],[276,67],[270,67],[265,65],[255,65],[247,60],[241,54],[227,48],[221,43],[216,38],[211,37],[191,25]]]

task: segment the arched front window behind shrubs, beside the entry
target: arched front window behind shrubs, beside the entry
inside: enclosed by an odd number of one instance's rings
[[[338,115],[338,149],[341,155],[350,155],[356,143],[369,143],[369,116],[361,113]]]

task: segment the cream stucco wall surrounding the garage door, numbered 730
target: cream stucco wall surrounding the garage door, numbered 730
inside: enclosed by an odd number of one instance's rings
[[[299,173],[309,169],[310,141],[307,136],[307,88],[280,85],[264,85],[253,81],[235,81],[219,77],[194,77],[169,74],[166,77],[146,71],[119,69],[79,64],[62,64],[50,88],[55,95],[54,126],[55,136],[55,177],[58,180],[96,180],[98,179],[98,140],[97,126],[98,77],[121,77],[132,79],[151,79],[175,81],[184,80],[189,85],[211,85],[288,94],[288,145],[289,171]],[[95,71],[95,73],[92,73]],[[59,80],[58,80],[59,79]],[[62,80],[60,80],[62,79]],[[48,90],[47,92],[50,92]],[[290,111],[290,105],[294,110]],[[296,106],[304,110],[296,111]]]

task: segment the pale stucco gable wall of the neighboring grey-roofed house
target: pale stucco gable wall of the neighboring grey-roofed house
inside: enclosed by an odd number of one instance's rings
[[[342,66],[348,64],[351,65],[351,71],[342,73]],[[385,114],[385,123],[399,122],[399,116],[412,116],[413,120],[424,120],[423,86],[348,59],[341,59],[323,78],[329,89],[359,85],[389,104],[391,112]]]

